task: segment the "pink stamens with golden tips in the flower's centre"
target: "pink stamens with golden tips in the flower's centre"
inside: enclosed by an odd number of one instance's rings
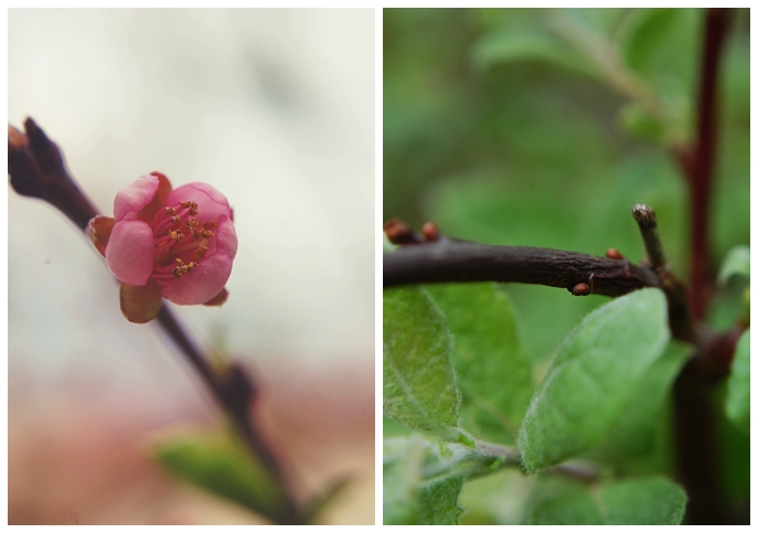
[[[194,269],[207,253],[207,242],[214,236],[215,221],[200,222],[195,202],[186,201],[163,207],[152,221],[156,246],[152,278],[160,285]]]

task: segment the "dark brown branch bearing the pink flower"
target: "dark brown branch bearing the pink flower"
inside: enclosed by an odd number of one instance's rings
[[[89,220],[100,212],[78,188],[65,167],[61,150],[36,122],[28,118],[24,129],[25,135],[12,126],[8,127],[8,174],[11,186],[19,194],[39,198],[57,207],[84,231]],[[257,391],[255,382],[237,364],[215,372],[166,303],[157,319],[227,412],[248,449],[285,488],[287,501],[284,502],[280,522],[300,523],[302,516],[284,469],[250,418]]]

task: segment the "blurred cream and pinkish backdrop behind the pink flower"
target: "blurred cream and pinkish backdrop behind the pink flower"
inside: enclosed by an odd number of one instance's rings
[[[158,170],[212,183],[228,301],[178,308],[263,388],[266,434],[325,523],[374,523],[374,10],[9,10],[8,119],[58,143],[105,214]],[[223,425],[84,236],[10,188],[9,523],[253,523],[148,459]]]

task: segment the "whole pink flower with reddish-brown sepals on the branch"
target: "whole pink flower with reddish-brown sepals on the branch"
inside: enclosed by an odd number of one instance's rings
[[[87,235],[121,281],[121,311],[132,322],[152,320],[162,298],[174,303],[221,305],[237,253],[226,198],[206,183],[171,190],[160,172],[121,189],[114,218],[89,221]]]

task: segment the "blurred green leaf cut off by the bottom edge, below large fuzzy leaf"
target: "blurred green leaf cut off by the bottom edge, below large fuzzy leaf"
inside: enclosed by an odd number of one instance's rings
[[[599,490],[559,484],[532,508],[530,523],[552,525],[675,525],[682,522],[686,494],[661,477],[605,483]]]

